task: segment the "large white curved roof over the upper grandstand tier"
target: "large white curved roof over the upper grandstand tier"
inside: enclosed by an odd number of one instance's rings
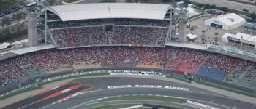
[[[72,4],[45,7],[58,15],[61,20],[86,20],[99,18],[141,18],[163,20],[169,9],[168,4],[97,3]]]

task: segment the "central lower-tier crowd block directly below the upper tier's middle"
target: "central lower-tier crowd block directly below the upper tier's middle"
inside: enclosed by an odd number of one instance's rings
[[[133,63],[134,50],[132,47],[104,47],[102,48],[103,64],[113,67],[118,63]]]

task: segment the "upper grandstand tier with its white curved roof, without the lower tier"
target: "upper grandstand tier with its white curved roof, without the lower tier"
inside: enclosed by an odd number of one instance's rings
[[[165,47],[170,39],[171,9],[164,4],[75,4],[46,7],[42,16],[48,19],[50,38],[60,49]],[[76,12],[83,14],[73,15]]]

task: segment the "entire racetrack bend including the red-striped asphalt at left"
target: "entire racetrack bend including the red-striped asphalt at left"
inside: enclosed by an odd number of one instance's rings
[[[164,79],[164,78],[162,78]],[[184,97],[189,100],[200,102],[205,105],[211,105],[216,108],[256,108],[256,105],[250,104],[248,102],[241,102],[230,97],[225,97],[222,94],[208,91],[206,89],[200,89],[195,86],[189,86],[187,84],[176,83],[172,81],[163,81],[158,79],[151,78],[130,78],[130,77],[102,77],[102,78],[80,78],[75,79],[70,84],[61,86],[60,89],[53,89],[52,92],[46,92],[44,94],[39,94],[38,96],[43,97],[29,97],[28,100],[22,100],[16,102],[15,104],[9,105],[5,108],[42,108],[46,105],[49,105],[53,102],[60,100],[63,97],[67,97],[70,94],[79,92],[82,89],[75,89],[65,94],[61,94],[56,97],[52,97],[47,100],[42,100],[44,97],[48,97],[53,93],[59,92],[63,89],[67,89],[70,86],[81,84],[89,84],[89,86],[94,86],[93,89],[90,89],[90,92],[80,94],[78,96],[72,97],[68,100],[58,102],[54,105],[47,106],[45,108],[72,108],[75,105],[79,105],[83,102],[88,102],[91,100],[97,100],[102,97],[110,97],[115,95],[127,95],[127,94],[159,94],[159,95],[168,95],[174,97]],[[69,86],[70,85],[70,86]],[[117,86],[117,85],[132,85],[131,88],[119,88],[119,89],[107,89],[107,86]],[[165,89],[165,88],[141,88],[135,87],[135,85],[161,85],[165,86],[178,86],[183,88],[188,88],[188,91],[174,90],[174,89]],[[83,87],[83,89],[89,88]],[[31,99],[33,98],[33,99]],[[42,100],[42,101],[39,101]],[[31,102],[32,101],[32,102]],[[37,102],[39,101],[39,102]],[[255,100],[256,101],[256,100]],[[31,104],[36,102],[34,104]],[[132,102],[132,101],[129,101]],[[116,102],[118,103],[118,102]],[[28,105],[31,104],[31,105]],[[99,104],[98,104],[99,105]],[[85,108],[85,107],[78,107]]]

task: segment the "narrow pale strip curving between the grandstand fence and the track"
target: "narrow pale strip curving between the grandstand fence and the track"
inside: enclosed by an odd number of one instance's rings
[[[236,94],[234,92],[228,92],[228,91],[225,91],[225,90],[222,90],[222,89],[217,89],[217,88],[214,88],[214,87],[211,87],[211,86],[205,86],[205,85],[202,85],[202,84],[197,84],[197,83],[195,83],[195,81],[192,81],[192,83],[189,84],[189,83],[186,83],[184,81],[178,81],[178,80],[173,79],[173,78],[160,78],[160,77],[154,77],[154,76],[90,76],[90,77],[81,77],[81,78],[104,78],[104,77],[152,78],[152,79],[159,79],[159,80],[163,80],[163,81],[173,81],[173,82],[177,82],[177,83],[180,83],[180,84],[187,84],[187,85],[190,85],[190,86],[195,86],[195,87],[200,88],[200,89],[206,89],[206,90],[209,90],[211,92],[216,92],[218,94],[222,94],[222,95],[225,95],[227,97],[233,97],[237,100],[241,100],[241,101],[244,101],[244,102],[250,102],[250,103],[256,104],[256,99],[254,97],[248,97],[248,96],[245,96],[245,95],[242,95],[242,94]],[[64,81],[57,81],[55,83],[45,85],[44,89],[38,89],[38,90],[31,91],[31,92],[18,94],[18,95],[15,95],[13,97],[9,97],[6,100],[1,101],[0,108],[4,107],[6,105],[10,105],[14,102],[18,102],[20,100],[26,99],[27,97],[31,97],[34,94],[37,94],[39,92],[43,92],[47,89],[53,88],[55,86],[59,86],[60,84],[64,84],[68,81],[72,81],[72,80],[75,80],[75,79],[78,79],[78,78],[70,78],[70,79],[67,79],[67,80],[64,80]]]

